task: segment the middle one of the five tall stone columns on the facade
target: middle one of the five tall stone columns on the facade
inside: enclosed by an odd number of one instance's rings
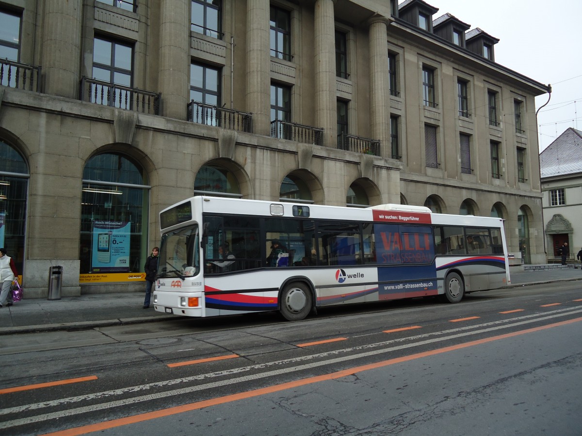
[[[247,110],[253,132],[271,135],[269,0],[247,0]]]

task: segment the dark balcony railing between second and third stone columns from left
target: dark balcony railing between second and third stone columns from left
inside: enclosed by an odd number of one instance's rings
[[[251,133],[253,114],[236,109],[218,108],[197,101],[188,103],[188,121]]]

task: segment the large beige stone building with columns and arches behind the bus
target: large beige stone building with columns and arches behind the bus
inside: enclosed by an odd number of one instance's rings
[[[0,235],[27,297],[47,295],[53,265],[62,295],[140,290],[159,210],[200,192],[500,216],[509,251],[543,262],[534,97],[548,87],[437,12],[0,1]],[[126,245],[100,268],[102,221]]]

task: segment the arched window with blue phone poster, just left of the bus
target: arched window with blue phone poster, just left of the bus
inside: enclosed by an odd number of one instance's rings
[[[143,169],[121,153],[103,153],[87,161],[81,195],[81,274],[143,271],[149,253],[149,189]]]

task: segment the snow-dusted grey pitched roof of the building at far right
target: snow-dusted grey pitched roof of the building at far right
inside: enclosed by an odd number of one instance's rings
[[[569,127],[540,153],[540,176],[582,173],[582,131]]]

